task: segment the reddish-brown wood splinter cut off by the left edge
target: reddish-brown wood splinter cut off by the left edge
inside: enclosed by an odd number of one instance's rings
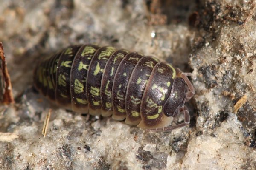
[[[12,84],[6,67],[2,42],[0,42],[0,103],[5,105],[14,103]]]

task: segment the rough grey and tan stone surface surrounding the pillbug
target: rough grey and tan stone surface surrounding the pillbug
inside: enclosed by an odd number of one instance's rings
[[[0,107],[0,169],[255,169],[255,2],[0,0],[0,4],[0,41],[16,101]],[[140,51],[192,71],[196,94],[187,104],[191,125],[166,133],[145,132],[47,102],[32,88],[35,62],[78,43]],[[244,95],[245,104],[234,112]],[[53,112],[44,138],[41,130],[49,108]],[[180,115],[175,123],[182,121]]]

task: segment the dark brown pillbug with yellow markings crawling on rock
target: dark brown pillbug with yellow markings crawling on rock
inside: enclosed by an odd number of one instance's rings
[[[62,107],[111,116],[147,130],[189,124],[184,105],[195,90],[178,68],[154,57],[111,46],[72,45],[38,63],[34,85]],[[184,123],[169,126],[184,113]]]

